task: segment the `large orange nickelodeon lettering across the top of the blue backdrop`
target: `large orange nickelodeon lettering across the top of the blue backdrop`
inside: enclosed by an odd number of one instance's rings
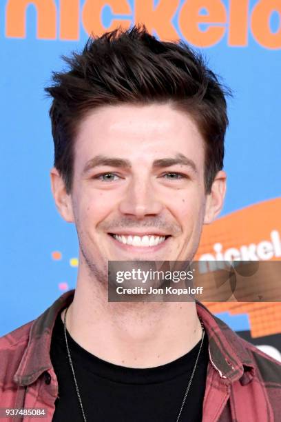
[[[154,0],[134,0],[131,8],[127,0],[60,0],[59,6],[55,0],[8,0],[6,37],[26,37],[26,11],[34,6],[38,39],[78,40],[81,25],[87,34],[101,35],[118,26],[145,23],[160,39],[184,38],[201,48],[214,46],[225,35],[229,46],[247,46],[249,31],[260,46],[281,48],[280,0],[254,1],[251,8],[249,0],[227,4],[228,8],[222,0],[159,0],[154,7]],[[110,14],[106,27],[105,10]]]

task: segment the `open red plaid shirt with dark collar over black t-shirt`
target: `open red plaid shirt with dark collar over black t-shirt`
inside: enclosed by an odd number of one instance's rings
[[[13,421],[52,421],[59,390],[50,360],[52,328],[73,295],[73,290],[63,294],[38,319],[0,339],[0,407],[48,412],[45,419]],[[202,421],[281,421],[281,364],[240,339],[201,303],[196,306],[209,340]]]

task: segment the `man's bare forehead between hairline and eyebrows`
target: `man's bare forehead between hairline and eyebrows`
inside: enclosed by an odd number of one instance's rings
[[[169,103],[104,106],[87,113],[76,135],[77,164],[96,154],[146,163],[185,154],[200,167],[204,140],[189,114]]]

